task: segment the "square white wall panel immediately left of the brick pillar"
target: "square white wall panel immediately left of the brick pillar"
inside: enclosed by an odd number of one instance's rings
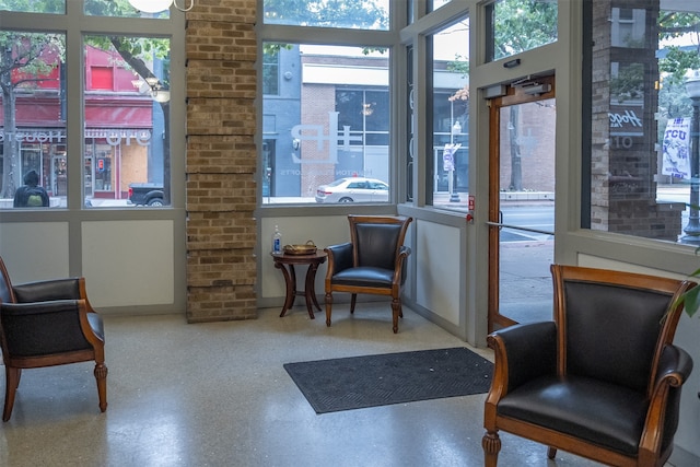
[[[174,302],[173,222],[84,222],[83,275],[100,306]]]

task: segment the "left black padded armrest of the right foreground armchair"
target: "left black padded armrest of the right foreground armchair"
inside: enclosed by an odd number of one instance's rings
[[[555,322],[511,326],[492,332],[487,341],[495,352],[493,385],[501,385],[501,396],[530,380],[557,373]]]

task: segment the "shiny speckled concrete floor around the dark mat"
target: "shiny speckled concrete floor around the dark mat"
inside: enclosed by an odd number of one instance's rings
[[[97,408],[92,364],[26,370],[12,419],[0,424],[0,465],[482,465],[485,395],[318,416],[282,367],[462,340],[410,310],[394,335],[387,303],[359,304],[354,316],[337,305],[331,328],[303,307],[278,314],[197,325],[178,315],[105,316],[107,411]],[[545,446],[506,433],[502,441],[501,466],[597,465],[567,453],[553,464]]]

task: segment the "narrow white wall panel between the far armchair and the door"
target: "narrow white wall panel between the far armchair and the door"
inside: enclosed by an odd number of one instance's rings
[[[419,305],[459,325],[459,250],[457,227],[418,221],[416,230],[416,299]]]

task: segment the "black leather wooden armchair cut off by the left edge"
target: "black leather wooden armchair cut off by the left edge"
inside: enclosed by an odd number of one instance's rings
[[[0,258],[0,345],[5,371],[3,421],[12,415],[22,369],[91,360],[100,409],[107,409],[104,327],[88,301],[83,278],[12,285]]]

